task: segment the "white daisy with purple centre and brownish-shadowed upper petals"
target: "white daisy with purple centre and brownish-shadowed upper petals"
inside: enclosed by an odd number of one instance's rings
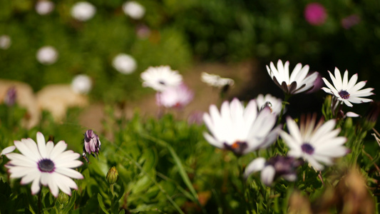
[[[290,117],[287,118],[289,133],[281,131],[279,134],[289,146],[287,156],[304,158],[316,170],[324,166],[319,163],[332,165],[332,158],[345,156],[349,150],[342,146],[346,138],[338,136],[340,128],[335,128],[335,120],[324,122],[322,119],[316,124],[316,114],[302,116],[300,125]]]

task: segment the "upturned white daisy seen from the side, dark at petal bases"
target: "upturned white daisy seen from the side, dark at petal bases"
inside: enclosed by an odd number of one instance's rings
[[[309,66],[306,65],[302,67],[301,63],[298,63],[294,67],[292,74],[289,76],[289,61],[282,64],[280,59],[277,62],[277,68],[273,62],[270,62],[270,68],[267,66],[267,71],[274,83],[288,94],[312,90],[312,88],[314,88],[314,81],[318,77],[318,72],[314,72],[308,76]]]

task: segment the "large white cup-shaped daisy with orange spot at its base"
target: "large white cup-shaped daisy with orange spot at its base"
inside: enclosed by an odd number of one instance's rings
[[[203,121],[210,133],[203,133],[206,140],[217,148],[242,155],[271,145],[277,138],[279,127],[274,128],[277,116],[269,108],[257,110],[255,100],[246,107],[237,98],[231,103],[222,103],[220,112],[210,106],[210,114],[203,115]]]

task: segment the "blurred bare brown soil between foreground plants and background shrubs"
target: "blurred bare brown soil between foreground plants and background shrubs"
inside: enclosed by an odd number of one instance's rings
[[[200,81],[200,73],[215,73],[222,77],[232,78],[235,81],[235,86],[233,86],[227,93],[227,98],[232,98],[239,95],[246,88],[250,88],[252,84],[252,76],[257,71],[257,64],[255,61],[246,61],[242,63],[235,64],[222,64],[222,63],[198,63],[195,66],[185,69],[185,71],[180,72],[183,74],[183,79],[186,85],[194,91],[194,99],[192,102],[186,106],[180,113],[173,111],[176,116],[181,118],[188,118],[192,114],[201,115],[202,112],[208,111],[211,104],[220,104],[219,90],[217,88],[212,88],[207,86],[206,83]],[[158,116],[160,109],[155,103],[155,93],[149,96],[141,98],[139,101],[134,103],[126,103],[125,108],[120,110],[120,108],[115,107],[115,113],[117,116],[124,115],[127,118],[133,116],[133,113],[138,109],[141,116]],[[123,113],[121,111],[124,111]],[[93,103],[83,110],[79,117],[81,126],[92,128],[96,131],[102,130],[101,121],[104,118],[104,105],[103,103]]]

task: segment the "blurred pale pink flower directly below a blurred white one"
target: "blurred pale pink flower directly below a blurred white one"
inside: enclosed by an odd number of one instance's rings
[[[167,88],[163,92],[158,92],[155,95],[158,106],[165,106],[165,108],[183,108],[192,101],[194,93],[190,91],[185,83],[177,87]]]

